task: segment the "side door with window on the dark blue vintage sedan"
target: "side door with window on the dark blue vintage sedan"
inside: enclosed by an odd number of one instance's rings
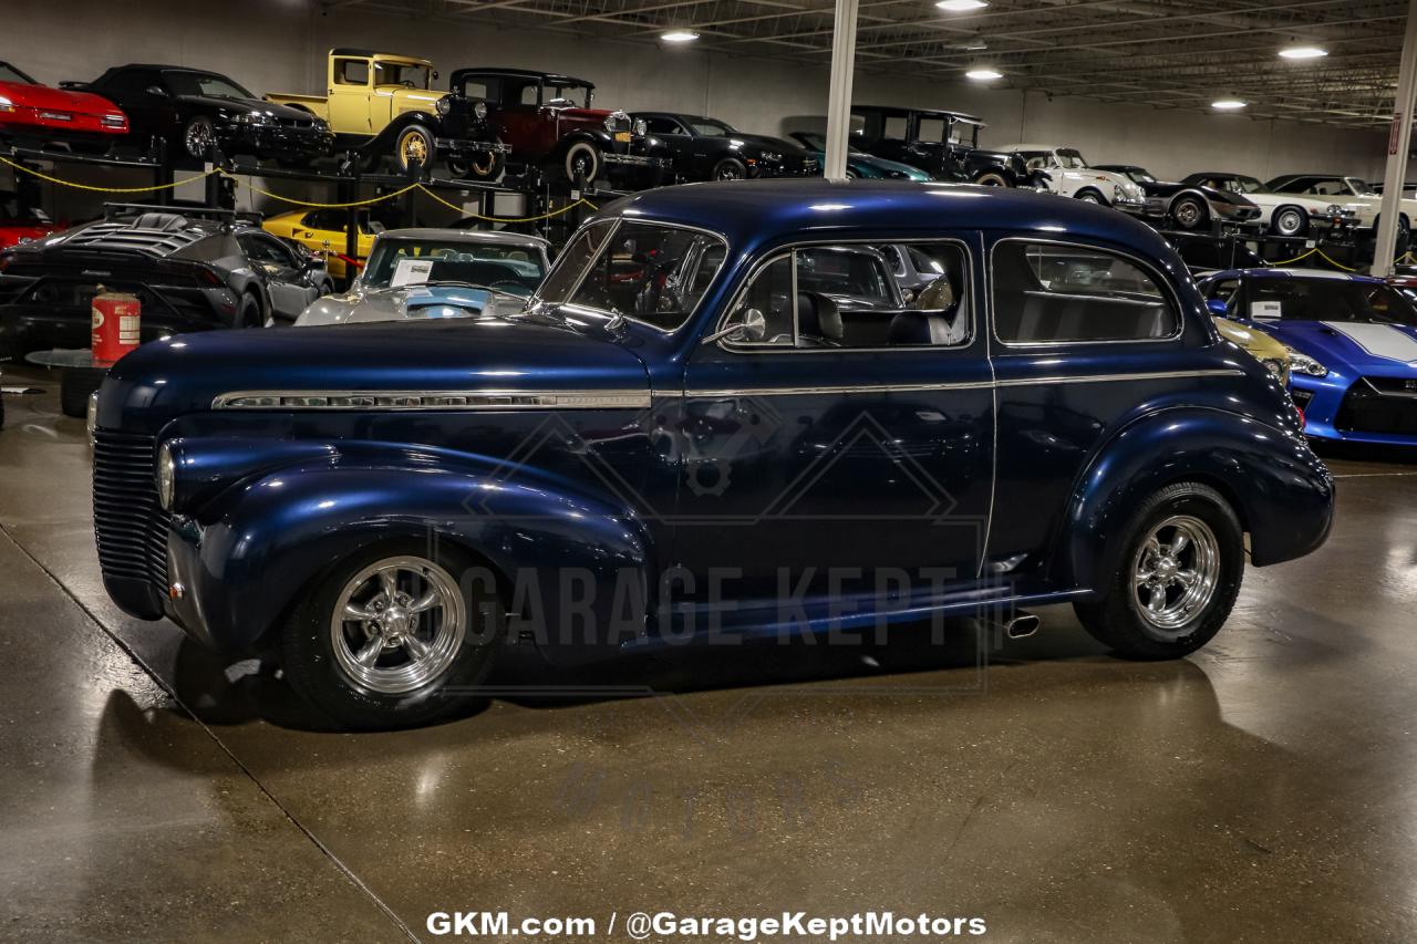
[[[934,308],[903,303],[883,244],[939,262]],[[956,234],[805,242],[755,266],[714,325],[750,329],[701,343],[684,371],[673,557],[691,585],[672,594],[684,612],[978,578],[993,391],[976,259],[978,237]]]

